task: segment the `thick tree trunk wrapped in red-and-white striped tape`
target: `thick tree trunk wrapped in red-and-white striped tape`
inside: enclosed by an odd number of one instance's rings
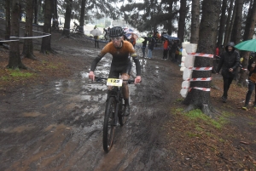
[[[213,54],[215,48],[216,35],[218,32],[218,16],[220,14],[220,0],[204,0],[202,2],[202,16],[199,32],[199,42],[197,52]],[[206,57],[195,57],[194,67],[212,66],[212,59]],[[192,78],[211,77],[212,71],[193,71]],[[200,108],[209,117],[213,116],[214,109],[210,103],[210,91],[203,91],[197,88],[210,88],[210,81],[190,82],[190,91],[183,101],[189,105],[187,110]]]

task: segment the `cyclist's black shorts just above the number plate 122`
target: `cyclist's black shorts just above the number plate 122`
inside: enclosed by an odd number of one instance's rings
[[[129,62],[125,66],[111,65],[108,77],[119,78],[119,76],[124,73],[130,76],[130,72],[131,72],[131,62]]]

